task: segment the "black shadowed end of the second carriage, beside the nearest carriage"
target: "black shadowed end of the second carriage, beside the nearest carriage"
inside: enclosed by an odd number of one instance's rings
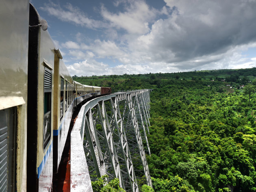
[[[29,24],[35,26],[39,24],[37,11],[30,4]],[[28,33],[28,104],[27,104],[27,192],[38,191],[37,179],[37,138],[38,138],[38,102],[37,87],[39,85],[38,76],[38,39],[39,28],[31,28]],[[28,183],[34,183],[28,185]]]

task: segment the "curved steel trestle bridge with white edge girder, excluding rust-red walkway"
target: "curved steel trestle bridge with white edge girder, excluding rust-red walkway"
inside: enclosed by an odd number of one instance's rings
[[[126,192],[139,192],[141,182],[152,187],[145,156],[151,91],[118,92],[81,107],[71,133],[70,191],[92,192],[91,181],[103,175],[119,178]]]

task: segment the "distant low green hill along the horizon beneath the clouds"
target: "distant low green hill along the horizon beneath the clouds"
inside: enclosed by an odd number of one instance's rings
[[[112,87],[113,92],[119,90],[156,88],[169,80],[195,80],[204,83],[211,81],[223,82],[225,84],[242,85],[256,78],[256,67],[250,69],[218,69],[204,71],[189,71],[178,73],[147,73],[133,75],[109,75],[77,77],[73,79],[82,84],[91,86]]]

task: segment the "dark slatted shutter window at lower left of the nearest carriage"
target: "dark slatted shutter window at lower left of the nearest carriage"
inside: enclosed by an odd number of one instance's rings
[[[15,109],[0,110],[0,191],[13,191],[15,179]]]

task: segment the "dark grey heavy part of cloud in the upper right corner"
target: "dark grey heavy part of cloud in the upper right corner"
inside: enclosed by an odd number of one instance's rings
[[[219,54],[256,41],[256,2],[240,0],[165,0],[171,17],[159,19],[150,32],[151,49],[169,52],[166,62]],[[152,52],[155,49],[152,49]],[[168,55],[169,55],[169,52]]]

